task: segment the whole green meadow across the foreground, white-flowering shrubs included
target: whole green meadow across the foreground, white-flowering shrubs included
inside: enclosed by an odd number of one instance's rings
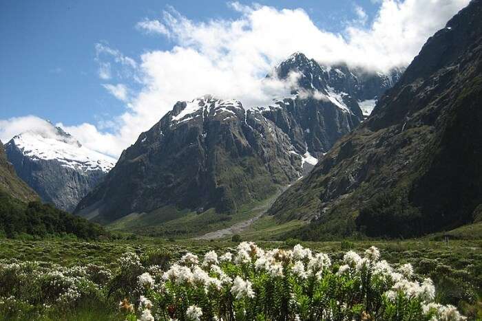
[[[311,249],[313,257],[295,260],[293,247],[299,246],[298,243]],[[240,250],[239,247],[246,247],[246,244],[229,240],[169,241],[145,237],[90,242],[1,239],[1,320],[154,320],[143,316],[147,306],[156,320],[169,320],[171,317],[172,320],[197,320],[198,317],[199,320],[346,320],[348,316],[350,320],[423,320],[420,318],[427,316],[423,315],[423,307],[428,302],[421,297],[414,294],[412,298],[396,297],[392,301],[386,298],[388,291],[393,291],[401,284],[397,285],[398,276],[395,279],[385,277],[383,280],[375,277],[379,269],[376,266],[384,266],[379,263],[384,260],[389,265],[384,267],[384,271],[388,273],[389,269],[394,275],[401,267],[407,264],[412,266],[412,274],[406,280],[408,283],[405,283],[405,286],[409,284],[412,288],[404,287],[401,292],[415,291],[415,285],[421,289],[424,280],[430,278],[434,287],[431,302],[453,306],[457,308],[453,311],[459,311],[468,320],[482,318],[482,241],[451,240],[448,245],[444,241],[430,239],[258,241],[255,252],[263,253],[262,256],[251,253],[250,248]],[[371,246],[379,249],[380,257],[363,263],[366,264],[366,270],[355,265],[350,269],[342,268],[349,265],[345,257],[348,252],[359,255],[357,260],[362,260]],[[247,260],[235,263],[235,257],[243,251],[248,253]],[[216,259],[209,265],[205,264],[213,253],[221,258],[226,252],[233,255],[231,263]],[[193,261],[189,263],[187,258]],[[318,259],[318,265],[311,263],[314,258]],[[258,262],[261,259],[264,261]],[[211,269],[211,265],[216,268]],[[300,270],[301,266],[303,268]],[[317,267],[312,274],[308,273],[310,266],[312,269],[313,266]],[[187,267],[189,273],[202,276],[200,282],[204,282],[204,285],[200,286],[192,280],[189,283],[189,276],[187,283],[182,284],[176,283],[174,278],[163,278],[169,271],[176,277],[182,274],[174,271],[173,267],[179,271],[185,271],[183,269]],[[277,267],[279,275],[273,274],[273,267]],[[349,274],[341,276],[340,269],[347,269]],[[294,271],[306,272],[306,278],[297,278]],[[315,277],[317,272],[318,276]],[[147,287],[141,286],[140,281],[140,276],[145,273],[148,274],[145,277]],[[231,278],[229,285],[218,285],[218,281],[213,281],[222,280],[223,274]],[[238,276],[240,280],[236,278]],[[310,277],[313,278],[313,284],[321,288],[316,288],[316,291],[310,288],[307,285]],[[246,287],[247,282],[251,283],[253,297],[250,291],[240,290],[240,293],[248,293],[249,296],[237,296],[238,293],[230,291],[235,288],[235,280],[238,280],[238,288],[242,285]],[[211,284],[211,281],[213,286],[218,287],[217,290],[208,291],[206,284]],[[297,288],[298,285],[300,288]],[[371,292],[363,292],[362,288],[371,289]],[[264,293],[260,289],[271,289],[271,292]],[[208,297],[205,293],[218,295]],[[297,297],[295,301],[289,300],[281,296],[284,293],[296,293]],[[348,293],[354,296],[348,299]],[[181,297],[183,302],[191,304],[181,304],[180,300],[176,300]],[[337,300],[333,301],[334,298]],[[271,302],[269,305],[279,305],[276,311],[284,311],[284,314],[275,315],[274,311],[266,310],[266,306],[269,306],[263,305],[266,300]],[[123,303],[119,305],[121,301]],[[342,302],[344,309],[338,309],[340,305],[336,301]],[[209,309],[211,305],[217,308]],[[434,303],[432,305],[439,307]],[[324,307],[324,312],[315,312],[320,307]],[[191,314],[187,313],[189,308]],[[199,311],[204,315],[196,314]],[[398,312],[393,314],[393,311]],[[415,314],[409,318],[410,313]],[[454,317],[447,320],[461,319]]]

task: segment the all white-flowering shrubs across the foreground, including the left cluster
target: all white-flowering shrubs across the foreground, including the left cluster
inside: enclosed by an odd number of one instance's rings
[[[111,308],[83,320],[465,320],[435,302],[430,278],[388,264],[375,247],[335,259],[242,242],[219,254],[186,253],[169,265],[163,253],[127,252],[112,271],[0,261],[0,319],[46,320],[87,300]]]

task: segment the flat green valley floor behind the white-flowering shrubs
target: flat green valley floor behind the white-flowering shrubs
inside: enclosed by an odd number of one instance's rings
[[[263,217],[262,219],[266,219]],[[260,241],[264,248],[293,247],[297,241]],[[118,259],[126,252],[139,255],[163,252],[169,254],[171,262],[177,261],[186,252],[203,255],[210,250],[223,252],[234,249],[238,243],[231,241],[206,241],[180,239],[167,241],[158,238],[142,238],[119,241],[20,241],[0,240],[0,264],[40,261],[45,264],[58,264],[64,267],[94,264],[114,272],[121,268]],[[381,256],[389,263],[412,263],[415,273],[434,280],[437,296],[444,304],[459,307],[465,315],[482,316],[482,241],[444,241],[407,240],[407,241],[332,241],[302,242],[305,247],[324,252],[332,259],[342,258],[344,252],[353,249],[362,252],[371,245],[380,249]],[[142,257],[142,256],[141,256]],[[1,285],[0,285],[1,290]],[[3,289],[2,291],[5,291]],[[3,296],[4,294],[0,294]],[[78,316],[65,320],[120,320],[115,307],[107,309],[105,316],[91,316],[83,308]],[[87,314],[85,314],[87,313]],[[1,320],[1,318],[0,318]],[[50,319],[42,319],[50,320]]]

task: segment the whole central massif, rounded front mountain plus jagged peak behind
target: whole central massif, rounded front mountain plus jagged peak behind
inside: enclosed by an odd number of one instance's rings
[[[331,87],[329,72],[303,54],[268,77],[293,75],[291,95],[268,106],[245,109],[238,100],[209,95],[177,102],[75,212],[101,223],[165,206],[235,213],[274,195],[364,119],[357,98]]]

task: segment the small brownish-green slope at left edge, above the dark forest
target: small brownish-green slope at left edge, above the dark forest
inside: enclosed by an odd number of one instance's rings
[[[23,202],[39,199],[39,196],[15,173],[12,164],[8,162],[2,142],[0,142],[0,192],[5,192]]]

